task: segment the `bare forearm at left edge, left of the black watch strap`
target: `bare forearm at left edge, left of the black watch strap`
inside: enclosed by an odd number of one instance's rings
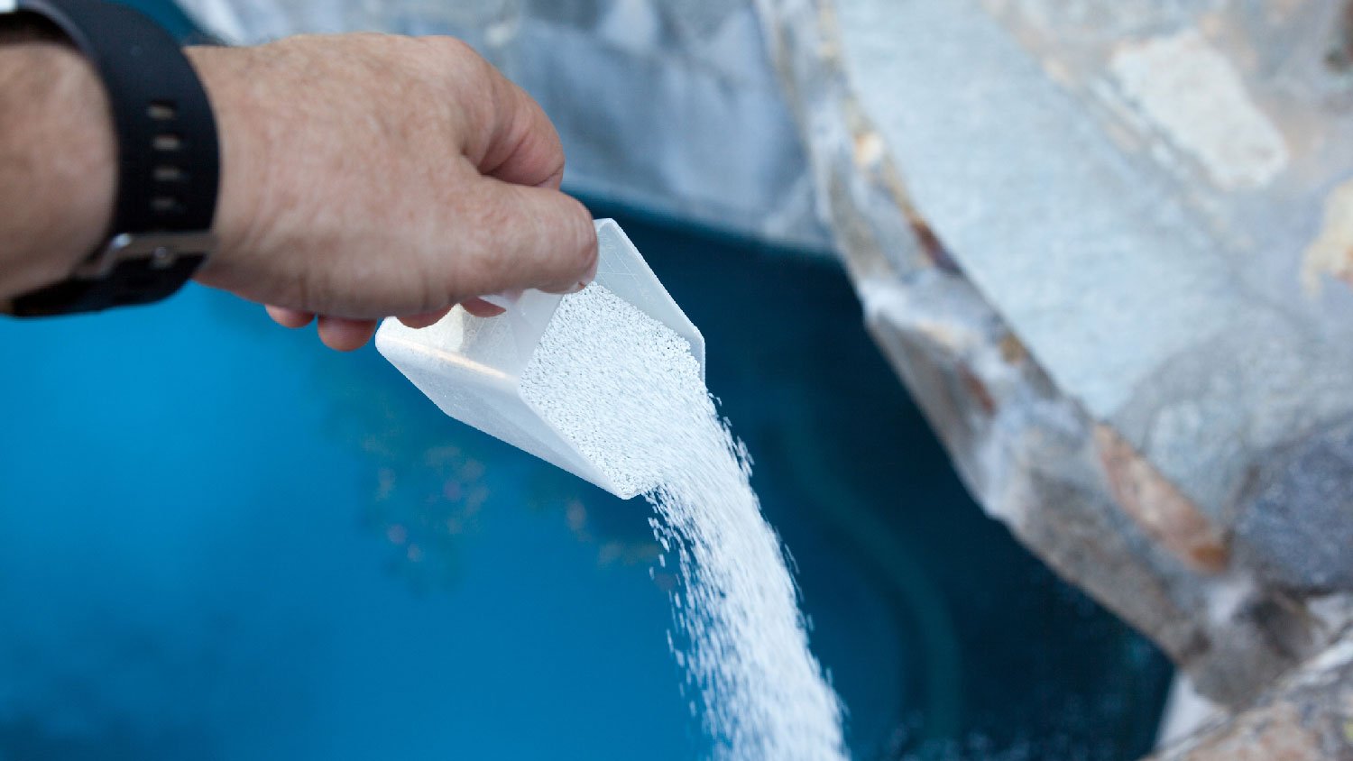
[[[107,234],[111,124],[78,53],[0,39],[0,301],[64,280]]]

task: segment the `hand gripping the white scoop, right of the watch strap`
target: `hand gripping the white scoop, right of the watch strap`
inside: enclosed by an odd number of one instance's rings
[[[384,316],[487,316],[476,296],[595,276],[559,135],[464,43],[350,34],[188,55],[222,143],[221,249],[200,283],[288,327],[318,314],[321,339],[352,350]]]

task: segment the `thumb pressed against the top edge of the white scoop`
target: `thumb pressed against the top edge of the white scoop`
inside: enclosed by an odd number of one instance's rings
[[[597,230],[572,196],[480,177],[472,197],[479,220],[465,239],[456,291],[483,296],[507,289],[576,291],[597,276]]]

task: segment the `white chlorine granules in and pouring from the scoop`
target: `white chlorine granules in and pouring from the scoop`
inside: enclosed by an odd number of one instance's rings
[[[560,303],[521,391],[656,508],[653,530],[683,581],[672,604],[685,645],[674,652],[698,689],[714,756],[844,758],[840,703],[808,649],[779,538],[686,342],[590,285]]]

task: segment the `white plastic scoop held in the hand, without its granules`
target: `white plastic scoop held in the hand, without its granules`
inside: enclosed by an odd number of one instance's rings
[[[597,283],[690,343],[705,372],[705,338],[667,295],[644,257],[612,219],[597,220],[601,258]],[[376,349],[452,418],[629,499],[594,462],[543,419],[521,395],[521,372],[563,296],[541,291],[495,296],[507,311],[476,318],[456,307],[422,330],[387,319],[376,331]]]

